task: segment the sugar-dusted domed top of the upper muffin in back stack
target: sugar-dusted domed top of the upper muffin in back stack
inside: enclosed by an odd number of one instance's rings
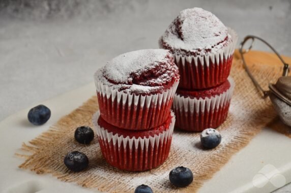
[[[201,8],[181,11],[160,38],[160,46],[186,56],[215,52],[231,41],[227,27]]]

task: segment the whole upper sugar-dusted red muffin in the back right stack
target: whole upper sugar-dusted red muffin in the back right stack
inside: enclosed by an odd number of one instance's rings
[[[207,89],[226,81],[238,40],[214,14],[201,8],[186,9],[173,20],[159,40],[179,67],[179,88]]]

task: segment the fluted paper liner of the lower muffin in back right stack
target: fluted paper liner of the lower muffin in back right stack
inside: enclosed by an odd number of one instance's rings
[[[228,113],[235,82],[229,77],[230,88],[210,98],[190,98],[175,94],[172,109],[176,115],[176,126],[188,131],[202,131],[222,124]]]

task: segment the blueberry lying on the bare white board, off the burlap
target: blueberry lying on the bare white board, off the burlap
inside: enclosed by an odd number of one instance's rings
[[[34,125],[43,125],[50,118],[50,109],[45,105],[38,105],[30,109],[27,114],[28,121]]]

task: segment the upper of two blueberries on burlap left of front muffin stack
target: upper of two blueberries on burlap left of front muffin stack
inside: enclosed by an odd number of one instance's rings
[[[90,144],[94,139],[94,131],[88,126],[81,126],[75,130],[75,139],[80,144]]]

